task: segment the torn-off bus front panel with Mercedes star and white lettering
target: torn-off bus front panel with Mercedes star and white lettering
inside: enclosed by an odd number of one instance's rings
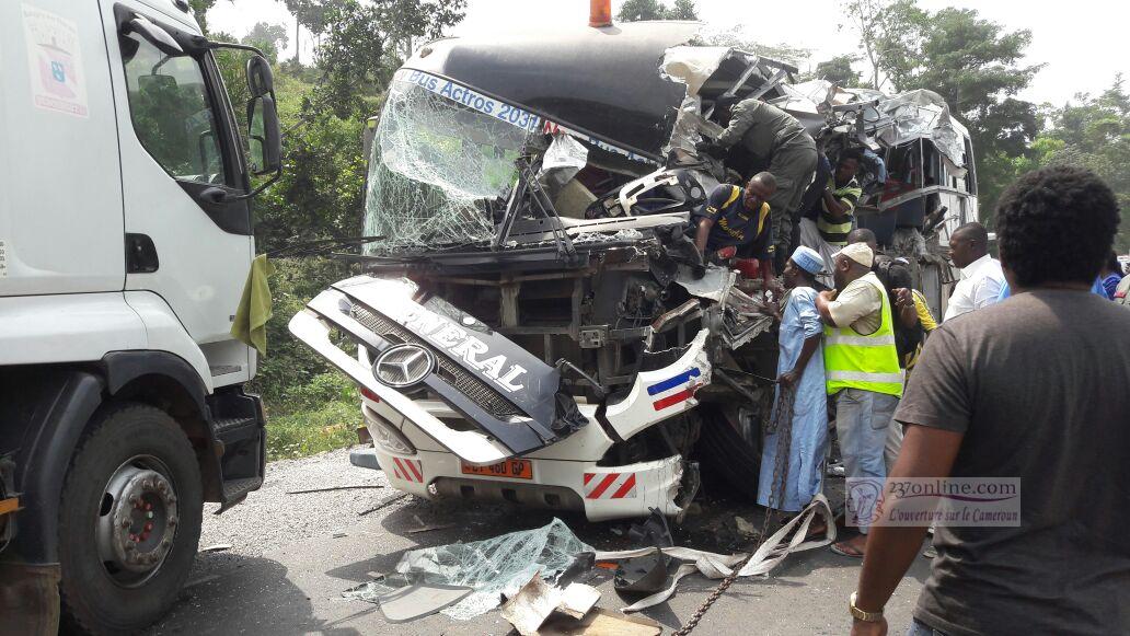
[[[319,294],[290,321],[290,331],[354,382],[424,433],[473,464],[522,455],[565,438],[588,420],[560,391],[560,374],[488,326],[432,297],[415,298],[409,280],[356,277]],[[372,367],[331,339],[338,331],[366,347]],[[411,385],[377,377],[382,356],[411,347],[433,360]],[[427,387],[473,422],[457,430],[426,412],[401,390]]]

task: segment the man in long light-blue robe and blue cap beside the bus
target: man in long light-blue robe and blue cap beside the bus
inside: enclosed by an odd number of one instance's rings
[[[777,382],[774,408],[782,395],[792,400],[788,456],[777,455],[777,435],[765,436],[762,446],[762,469],[757,503],[779,511],[799,512],[824,487],[824,455],[828,444],[828,406],[824,384],[824,356],[820,340],[824,325],[816,311],[816,275],[824,270],[824,260],[815,250],[800,246],[784,265],[784,285],[789,293],[781,313],[777,333]],[[775,476],[779,463],[788,462],[784,483]],[[812,533],[822,531],[810,529]]]

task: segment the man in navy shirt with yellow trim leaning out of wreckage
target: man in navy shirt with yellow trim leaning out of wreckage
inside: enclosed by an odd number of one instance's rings
[[[776,180],[757,173],[745,188],[721,184],[711,191],[696,215],[695,246],[703,255],[733,246],[740,259],[757,259],[762,278],[773,280],[773,224],[767,199],[776,192]]]

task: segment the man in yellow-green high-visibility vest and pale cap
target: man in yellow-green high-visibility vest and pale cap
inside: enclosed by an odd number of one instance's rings
[[[816,308],[824,321],[827,393],[836,397],[836,436],[847,478],[887,476],[883,459],[890,416],[903,394],[890,300],[871,271],[875,253],[853,243],[832,260],[836,291],[822,291]],[[870,525],[867,488],[847,485],[847,521],[862,534],[832,550],[862,557]],[[880,490],[881,491],[881,487]]]

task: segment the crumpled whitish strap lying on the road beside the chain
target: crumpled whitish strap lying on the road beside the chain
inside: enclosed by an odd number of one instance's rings
[[[823,539],[807,540],[808,529],[811,526],[812,520],[815,520],[817,515],[824,519],[825,528],[827,530],[825,531]],[[741,572],[738,573],[738,576],[768,574],[792,552],[820,548],[835,541],[835,539],[836,524],[832,515],[832,508],[828,506],[828,500],[824,497],[824,495],[817,495],[816,498],[814,498],[812,502],[800,512],[800,514],[794,516],[789,523],[782,525],[776,532],[773,533],[772,537],[766,539],[757,548],[754,556],[749,559],[749,563],[747,563],[745,567],[741,568]],[[655,550],[655,548],[640,548],[636,550],[620,550],[615,552],[597,552],[596,559],[598,561],[629,559],[650,554],[653,550]],[[712,580],[724,578],[732,573],[731,568],[740,564],[741,560],[746,558],[746,555],[742,554],[719,555],[681,547],[663,548],[662,551],[671,558],[680,559],[687,563],[679,565],[678,569],[676,569],[675,574],[671,576],[670,583],[666,590],[641,599],[620,611],[640,611],[667,601],[675,595],[679,581],[688,574],[693,574],[695,572],[698,572],[703,576]]]

